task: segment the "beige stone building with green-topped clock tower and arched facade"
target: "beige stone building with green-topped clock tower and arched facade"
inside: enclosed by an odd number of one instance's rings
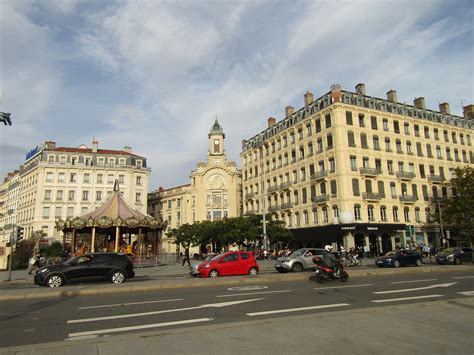
[[[198,162],[190,183],[169,189],[159,188],[148,195],[148,213],[168,221],[168,230],[196,221],[215,221],[241,215],[241,171],[227,160],[225,134],[215,121],[208,135],[206,162]],[[176,252],[173,240],[162,237],[162,252]],[[199,252],[195,248],[193,252]]]

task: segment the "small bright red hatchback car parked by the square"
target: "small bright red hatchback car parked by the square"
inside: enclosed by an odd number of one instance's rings
[[[219,254],[198,267],[199,277],[258,274],[258,264],[251,253],[231,251]]]

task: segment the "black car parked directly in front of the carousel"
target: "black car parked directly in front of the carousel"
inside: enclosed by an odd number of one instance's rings
[[[133,263],[125,254],[89,253],[40,268],[35,274],[35,285],[59,287],[67,282],[96,280],[119,284],[134,276]]]

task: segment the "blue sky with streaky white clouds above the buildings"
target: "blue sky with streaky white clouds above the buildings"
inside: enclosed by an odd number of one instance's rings
[[[229,159],[284,107],[338,83],[401,102],[474,103],[471,1],[0,0],[0,176],[45,140],[148,159],[189,182],[219,119]]]

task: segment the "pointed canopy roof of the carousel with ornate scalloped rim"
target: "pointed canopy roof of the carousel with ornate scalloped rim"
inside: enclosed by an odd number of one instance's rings
[[[56,228],[59,230],[82,228],[146,228],[166,229],[167,222],[158,222],[154,217],[134,209],[120,192],[119,183],[115,180],[112,196],[94,211],[80,217],[58,219]]]

